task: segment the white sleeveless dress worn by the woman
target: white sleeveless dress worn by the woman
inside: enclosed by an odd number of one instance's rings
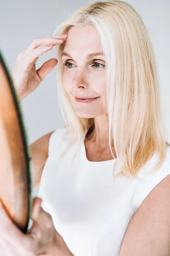
[[[142,180],[116,177],[115,159],[91,162],[82,143],[75,160],[76,143],[59,161],[69,139],[67,128],[50,137],[48,159],[40,181],[38,197],[51,214],[57,232],[74,256],[119,256],[127,226],[150,191],[170,174],[170,147],[158,172],[147,175],[157,153],[138,172]]]

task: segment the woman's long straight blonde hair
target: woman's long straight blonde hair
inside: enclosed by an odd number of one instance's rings
[[[109,146],[111,149],[112,134],[116,163],[121,167],[121,172],[115,177],[126,175],[138,178],[137,172],[156,151],[159,162],[153,171],[159,169],[165,158],[167,143],[156,61],[147,29],[133,6],[112,0],[82,7],[60,24],[54,35],[59,29],[61,35],[68,33],[73,26],[86,24],[95,26],[99,32],[105,54]],[[64,44],[57,45],[57,83],[59,104],[71,136],[62,156],[75,141],[78,141],[78,151],[89,128],[94,125],[94,118],[77,116],[62,86]],[[112,149],[111,153],[113,155]]]

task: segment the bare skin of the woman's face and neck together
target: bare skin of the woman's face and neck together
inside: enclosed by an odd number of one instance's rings
[[[70,96],[77,116],[94,118],[94,130],[85,138],[87,158],[91,161],[113,159],[108,138],[105,56],[98,54],[87,58],[91,53],[102,52],[98,31],[92,25],[72,27],[68,32],[63,52],[72,57],[62,55],[62,62],[68,62],[64,69],[63,87]],[[97,63],[92,64],[92,62]],[[98,98],[95,101],[82,103],[77,102],[75,96]],[[116,157],[113,144],[112,151]]]

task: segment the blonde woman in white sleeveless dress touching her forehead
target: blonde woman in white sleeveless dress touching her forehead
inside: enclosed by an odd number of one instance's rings
[[[57,60],[36,70],[37,58],[54,45]],[[12,76],[20,100],[56,64],[66,125],[30,145],[43,209],[36,198],[40,212],[30,233],[20,235],[27,244],[22,252],[170,255],[170,144],[142,18],[118,0],[79,9],[53,36],[36,39],[19,55]],[[48,224],[42,221],[50,215]]]

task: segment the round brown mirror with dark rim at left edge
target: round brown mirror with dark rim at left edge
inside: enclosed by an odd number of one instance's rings
[[[0,52],[0,199],[23,233],[32,211],[31,154],[20,103]]]

